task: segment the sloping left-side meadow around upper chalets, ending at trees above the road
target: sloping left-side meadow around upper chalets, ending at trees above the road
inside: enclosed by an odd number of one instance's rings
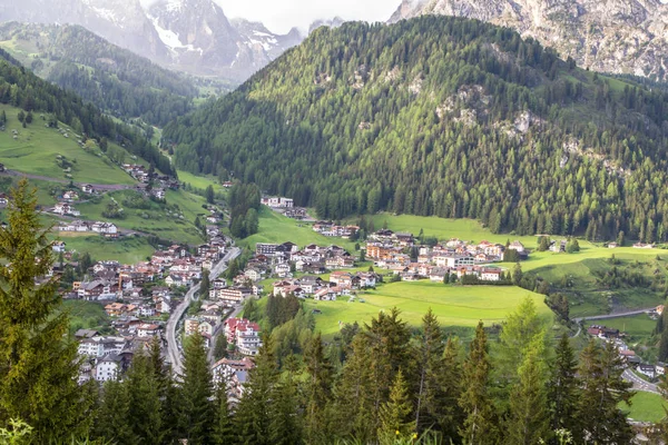
[[[188,194],[185,190],[168,190],[167,205],[147,201],[148,208],[136,209],[124,205],[124,201],[135,196],[134,191],[122,190],[105,195],[99,202],[87,202],[78,206],[81,217],[92,220],[109,220],[102,211],[114,198],[122,208],[125,219],[112,221],[121,228],[139,230],[179,243],[200,244],[200,231],[195,227],[195,218],[205,215],[202,208],[204,198]]]

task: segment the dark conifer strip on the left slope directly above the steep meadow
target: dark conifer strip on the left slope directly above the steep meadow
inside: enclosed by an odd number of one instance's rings
[[[86,103],[75,93],[38,78],[1,49],[0,103],[22,108],[24,126],[57,126],[60,121],[79,135],[98,139],[104,149],[106,149],[105,141],[117,142],[131,154],[151,162],[160,171],[175,174],[169,159],[163,156],[138,129],[115,122],[92,103]],[[43,123],[33,122],[33,119],[37,119],[35,113],[43,115]],[[0,123],[4,129],[4,123]]]

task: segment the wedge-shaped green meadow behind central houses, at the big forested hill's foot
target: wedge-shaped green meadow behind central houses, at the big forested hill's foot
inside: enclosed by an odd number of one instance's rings
[[[311,228],[311,225],[295,219],[286,218],[268,207],[262,206],[259,210],[259,233],[244,238],[239,244],[255,249],[256,243],[285,243],[292,241],[299,247],[310,244],[328,246],[335,244],[348,251],[354,251],[355,244],[342,238],[328,238]]]

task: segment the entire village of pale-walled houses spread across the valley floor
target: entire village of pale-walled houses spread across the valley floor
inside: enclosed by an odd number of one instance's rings
[[[264,200],[267,206],[282,211],[294,208],[286,198]],[[77,228],[79,225],[114,236],[114,229],[105,222],[90,225],[73,220],[61,227],[65,230],[82,230]],[[360,235],[357,226],[341,226],[332,221],[315,221],[313,230],[325,237],[346,240],[358,240]],[[150,260],[135,265],[99,261],[91,267],[88,279],[72,284],[67,298],[101,301],[111,318],[107,335],[89,329],[76,333],[80,342],[79,354],[86,357],[80,382],[122,378],[134,354],[148,348],[154,338],[166,347],[166,322],[174,307],[188,288],[202,283],[204,275],[230,246],[232,240],[223,236],[217,226],[207,226],[207,236],[208,241],[196,248],[174,245],[155,251]],[[566,241],[552,241],[550,250],[563,251],[564,245]],[[510,285],[510,274],[494,264],[503,261],[508,251],[513,251],[512,258],[518,260],[529,256],[529,250],[518,240],[502,245],[452,238],[428,245],[413,234],[389,229],[370,234],[365,240],[360,240],[358,246],[358,251],[348,251],[335,244],[255,244],[254,251],[236,275],[210,280],[196,310],[188,310],[178,324],[179,342],[198,333],[205,346],[212,349],[217,336],[225,337],[226,356],[212,359],[212,370],[216,379],[227,382],[228,396],[234,403],[244,393],[248,373],[254,367],[253,357],[262,346],[261,326],[237,316],[249,298],[289,295],[316,301],[343,298],[364,303],[366,289],[375,289],[387,281]],[[53,248],[67,251],[62,241],[55,243]],[[314,314],[317,312],[314,309]],[[588,333],[613,339],[620,356],[641,374],[651,377],[661,373],[660,364],[651,365],[654,370],[649,369],[650,365],[642,364],[619,338],[619,333],[597,326],[589,328]]]

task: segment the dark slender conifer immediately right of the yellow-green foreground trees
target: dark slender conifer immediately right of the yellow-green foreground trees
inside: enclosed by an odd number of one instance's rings
[[[548,385],[551,428],[552,431],[566,429],[572,433],[577,429],[578,422],[576,417],[576,408],[579,399],[578,380],[576,377],[578,360],[567,334],[563,334],[554,352],[556,360],[552,367],[550,384]]]

